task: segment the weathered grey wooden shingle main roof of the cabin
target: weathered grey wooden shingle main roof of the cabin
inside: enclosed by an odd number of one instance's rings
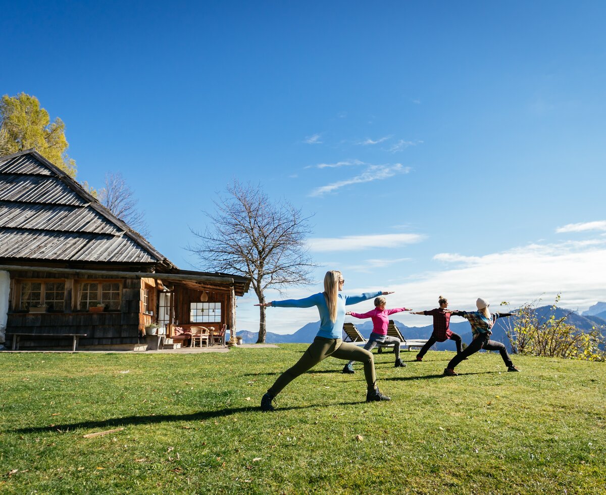
[[[33,150],[0,158],[0,259],[161,264],[136,231]]]

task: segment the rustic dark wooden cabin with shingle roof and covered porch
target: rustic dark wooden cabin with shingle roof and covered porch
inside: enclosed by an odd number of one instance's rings
[[[179,270],[36,151],[0,158],[0,344],[134,349],[151,324],[168,337],[226,325],[233,339],[249,287]]]

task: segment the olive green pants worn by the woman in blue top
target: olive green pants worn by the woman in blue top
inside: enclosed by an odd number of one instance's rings
[[[343,342],[341,339],[316,337],[307,348],[307,351],[301,356],[301,359],[299,359],[293,367],[284,371],[267,393],[275,397],[296,377],[315,367],[316,364],[328,356],[364,363],[364,377],[368,390],[375,390],[377,381],[375,374],[375,359],[371,352],[359,348],[357,345],[351,344],[350,342]]]

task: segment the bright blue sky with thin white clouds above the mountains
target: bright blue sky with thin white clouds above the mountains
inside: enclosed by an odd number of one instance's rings
[[[0,7],[0,92],[65,122],[80,181],[121,171],[179,267],[238,178],[314,214],[318,280],[341,269],[347,291],[606,300],[604,2]],[[268,313],[278,333],[316,319]]]

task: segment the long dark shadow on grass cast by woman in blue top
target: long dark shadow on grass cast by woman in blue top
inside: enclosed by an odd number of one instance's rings
[[[336,402],[334,405],[350,406],[361,404],[364,401],[357,402]],[[278,407],[275,413],[279,414],[281,411],[296,411],[301,409],[314,409],[323,407],[318,404],[304,405],[304,406],[291,406],[291,407]],[[47,427],[31,427],[31,428],[18,428],[17,430],[4,430],[5,433],[67,433],[70,430],[76,430],[77,428],[104,428],[104,430],[110,430],[113,428],[124,427],[126,425],[153,425],[159,423],[173,423],[178,421],[204,421],[207,419],[215,419],[218,417],[231,416],[231,414],[238,413],[256,413],[261,411],[260,407],[235,407],[220,409],[217,411],[199,411],[198,413],[191,414],[154,414],[151,416],[124,416],[124,417],[113,417],[110,419],[98,420],[98,421],[81,421],[78,423],[69,424],[55,424]]]

